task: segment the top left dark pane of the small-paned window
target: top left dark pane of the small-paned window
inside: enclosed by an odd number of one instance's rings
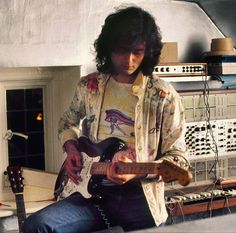
[[[24,90],[7,90],[7,110],[24,109]]]

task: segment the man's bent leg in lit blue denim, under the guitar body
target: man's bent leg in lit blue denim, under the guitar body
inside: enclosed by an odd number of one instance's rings
[[[32,215],[23,233],[86,233],[106,228],[101,214],[90,200],[73,194]]]

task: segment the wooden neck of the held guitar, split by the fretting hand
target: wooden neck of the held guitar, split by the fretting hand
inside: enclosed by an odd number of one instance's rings
[[[106,175],[110,163],[94,162],[91,175]],[[118,174],[158,174],[160,165],[158,163],[116,163]]]

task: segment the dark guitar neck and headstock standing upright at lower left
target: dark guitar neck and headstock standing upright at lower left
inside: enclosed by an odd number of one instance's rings
[[[24,185],[23,177],[20,167],[8,166],[7,175],[11,184],[12,192],[15,194],[16,200],[16,213],[18,218],[19,232],[21,233],[21,227],[26,218],[25,202],[24,202]]]

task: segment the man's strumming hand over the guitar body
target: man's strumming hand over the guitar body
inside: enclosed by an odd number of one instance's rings
[[[82,181],[79,173],[82,170],[82,155],[78,151],[76,141],[69,140],[65,142],[64,149],[67,153],[65,168],[70,179],[78,184]]]

